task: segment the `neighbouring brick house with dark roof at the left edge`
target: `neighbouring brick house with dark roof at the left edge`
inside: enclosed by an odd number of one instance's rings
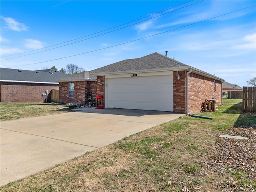
[[[58,80],[68,76],[53,69],[18,70],[0,68],[0,102],[45,102]],[[48,90],[47,97],[43,95]]]

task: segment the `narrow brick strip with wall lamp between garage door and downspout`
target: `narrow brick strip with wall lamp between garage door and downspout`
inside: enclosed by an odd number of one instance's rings
[[[173,112],[186,113],[186,71],[173,72]]]

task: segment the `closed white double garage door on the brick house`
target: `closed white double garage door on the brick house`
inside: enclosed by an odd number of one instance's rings
[[[107,108],[173,111],[173,76],[107,78]]]

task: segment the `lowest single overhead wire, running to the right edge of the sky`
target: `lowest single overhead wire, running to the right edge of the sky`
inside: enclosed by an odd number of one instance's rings
[[[74,56],[78,56],[78,55],[82,55],[82,54],[87,54],[87,53],[91,53],[91,52],[96,52],[96,51],[100,51],[100,50],[104,50],[104,49],[108,49],[108,48],[120,46],[120,45],[123,45],[123,44],[135,42],[135,41],[138,41],[138,40],[146,39],[146,38],[153,37],[153,36],[156,36],[156,35],[160,35],[160,34],[163,34],[163,33],[166,33],[166,32],[178,30],[178,29],[181,29],[181,28],[184,28],[184,27],[188,27],[188,26],[191,26],[191,25],[194,25],[194,24],[198,24],[198,23],[201,23],[201,22],[205,22],[205,21],[208,21],[208,20],[211,20],[211,19],[214,19],[214,18],[218,18],[218,17],[224,16],[224,15],[228,15],[228,14],[231,14],[231,13],[234,13],[234,12],[238,12],[238,11],[241,11],[241,10],[244,10],[244,9],[247,9],[247,8],[251,8],[251,7],[253,7],[253,6],[256,6],[256,5],[248,6],[248,7],[246,7],[246,8],[242,8],[242,9],[239,9],[239,10],[235,10],[235,11],[232,11],[232,12],[229,12],[229,13],[226,13],[226,14],[222,14],[222,15],[215,16],[215,17],[212,17],[212,18],[208,18],[208,19],[205,19],[205,20],[202,20],[202,21],[198,21],[198,22],[195,22],[195,23],[192,23],[192,24],[188,24],[188,25],[185,25],[185,26],[181,26],[181,27],[178,27],[178,28],[175,28],[175,29],[171,29],[171,30],[168,30],[168,31],[165,31],[165,32],[161,32],[161,33],[157,33],[157,34],[154,34],[154,35],[146,36],[146,37],[143,37],[143,38],[139,38],[139,39],[136,39],[136,40],[132,40],[132,41],[120,43],[120,44],[117,44],[117,45],[113,45],[113,46],[109,46],[109,47],[105,47],[105,48],[101,48],[101,49],[97,49],[97,50],[92,50],[92,51],[88,51],[88,52],[84,52],[84,53],[80,53],[80,54],[76,54],[76,55],[71,55],[71,56],[66,56],[66,57],[62,57],[62,58],[52,59],[52,60],[48,60],[48,61],[36,62],[36,63],[32,63],[32,64],[19,65],[19,66],[14,66],[14,67],[28,66],[28,65],[34,65],[34,64],[39,64],[39,63],[45,63],[45,62],[50,62],[50,61],[65,59],[65,58],[69,58],[69,57],[74,57]]]

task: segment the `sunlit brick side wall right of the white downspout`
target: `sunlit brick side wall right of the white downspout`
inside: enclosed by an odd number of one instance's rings
[[[202,75],[190,73],[188,78],[189,90],[189,113],[199,113],[201,111],[202,102],[205,99],[215,98],[222,102],[221,82],[216,80],[216,92],[214,92],[214,80]]]

